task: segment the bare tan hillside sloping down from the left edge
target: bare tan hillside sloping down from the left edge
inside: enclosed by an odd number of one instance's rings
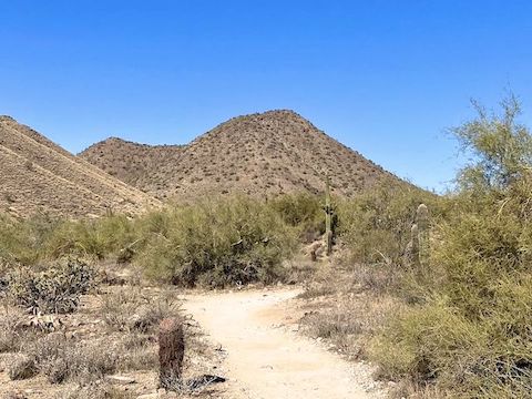
[[[158,205],[10,116],[0,116],[0,212],[85,216]]]

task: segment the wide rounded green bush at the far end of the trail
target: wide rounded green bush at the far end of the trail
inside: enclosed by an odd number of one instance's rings
[[[295,232],[258,201],[233,197],[166,211],[166,232],[150,234],[139,264],[178,285],[272,283],[295,247]],[[153,215],[152,215],[153,218]]]

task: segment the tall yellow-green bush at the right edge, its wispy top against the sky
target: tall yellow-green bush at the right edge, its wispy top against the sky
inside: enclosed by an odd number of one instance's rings
[[[430,268],[444,278],[371,351],[388,376],[460,398],[524,398],[532,386],[532,140],[513,99],[503,111],[480,109],[456,131],[474,162],[433,243]]]

